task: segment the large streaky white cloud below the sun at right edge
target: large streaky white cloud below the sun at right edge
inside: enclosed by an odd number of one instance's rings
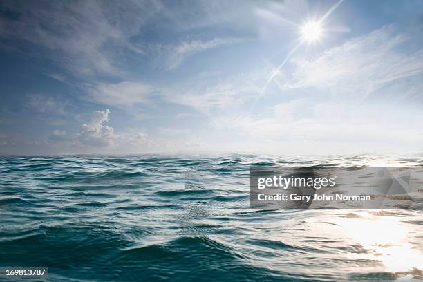
[[[292,79],[283,87],[317,87],[334,95],[367,97],[391,82],[398,84],[401,79],[422,75],[423,50],[406,54],[400,48],[406,41],[405,35],[384,27],[317,57],[295,57]]]

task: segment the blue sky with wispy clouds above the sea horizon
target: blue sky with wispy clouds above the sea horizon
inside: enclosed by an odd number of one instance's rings
[[[413,0],[1,0],[0,154],[422,152],[422,31]]]

